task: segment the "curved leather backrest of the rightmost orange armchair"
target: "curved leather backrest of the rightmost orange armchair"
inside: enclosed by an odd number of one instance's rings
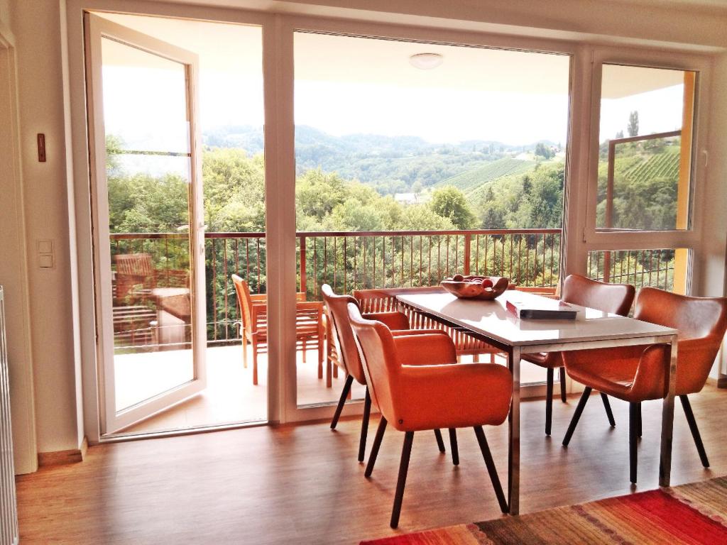
[[[634,318],[679,330],[677,394],[699,392],[727,330],[727,298],[690,297],[641,288]],[[681,350],[683,341],[696,342],[689,350]]]

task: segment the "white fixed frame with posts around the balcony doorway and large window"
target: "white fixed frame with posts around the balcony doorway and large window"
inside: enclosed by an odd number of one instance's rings
[[[470,44],[473,46],[507,47],[510,49],[561,52],[571,55],[571,121],[577,127],[569,133],[569,158],[566,166],[564,193],[564,228],[569,236],[562,243],[565,273],[585,272],[587,246],[585,238],[585,205],[587,187],[588,148],[592,123],[593,96],[591,87],[594,44],[602,43],[595,38],[566,41],[521,35],[489,33],[481,30],[462,30],[439,26],[416,26],[416,23],[392,24],[364,20],[333,19],[321,16],[281,14],[250,9],[231,9],[212,6],[169,4],[140,0],[68,0],[66,24],[68,28],[68,74],[66,84],[70,89],[71,131],[73,136],[73,177],[75,195],[71,206],[75,208],[78,230],[78,275],[81,305],[81,356],[83,365],[84,426],[90,443],[100,440],[98,433],[99,405],[97,397],[97,347],[93,331],[96,317],[92,285],[92,228],[89,211],[88,140],[84,97],[84,65],[81,20],[84,10],[126,12],[159,17],[180,17],[221,23],[260,25],[263,32],[263,74],[265,94],[265,198],[268,209],[275,209],[277,217],[268,214],[268,288],[270,352],[268,354],[268,419],[271,422],[300,421],[328,418],[330,407],[307,408],[298,411],[294,381],[286,378],[283,361],[294,360],[294,344],[291,334],[294,324],[295,283],[295,228],[294,211],[294,126],[292,112],[293,73],[292,36],[297,29],[313,31],[340,31],[352,34],[394,36],[401,39]],[[423,24],[423,23],[422,23]],[[617,40],[612,40],[615,43]],[[599,47],[607,49],[606,47]],[[611,48],[624,55],[648,55],[663,65],[667,60],[689,57],[708,62],[709,55],[683,54],[683,49],[627,49]],[[288,55],[286,55],[286,53]],[[73,76],[73,77],[71,77]],[[702,90],[708,84],[702,78]],[[704,112],[704,99],[702,112]],[[277,105],[277,106],[276,106]],[[702,134],[706,134],[706,126]],[[695,207],[699,203],[695,201]],[[698,218],[695,218],[699,220]],[[589,240],[595,247],[596,241]],[[567,261],[566,261],[567,259]],[[286,332],[286,330],[288,330]],[[362,403],[350,403],[345,413],[361,411]]]

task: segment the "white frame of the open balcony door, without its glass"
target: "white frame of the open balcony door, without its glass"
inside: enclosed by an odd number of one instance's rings
[[[113,23],[92,13],[84,15],[84,32],[87,62],[87,96],[89,116],[89,161],[91,163],[91,183],[95,193],[91,209],[93,214],[95,243],[95,276],[97,290],[97,312],[102,319],[97,327],[100,395],[100,432],[113,435],[119,429],[196,395],[206,387],[206,304],[204,299],[204,221],[201,191],[201,134],[196,118],[198,104],[198,57],[172,44],[146,34]],[[113,355],[113,320],[103,319],[113,315],[111,293],[111,244],[108,232],[108,186],[106,179],[105,124],[103,118],[103,59],[101,57],[102,39],[112,39],[129,47],[134,47],[156,57],[176,62],[185,69],[185,94],[187,118],[189,123],[190,146],[190,190],[189,190],[189,247],[190,247],[190,298],[192,312],[192,357],[193,379],[160,392],[148,400],[143,400],[121,411],[116,410],[116,389],[114,378],[115,358]],[[98,115],[101,113],[101,115]],[[203,271],[202,274],[199,271]]]

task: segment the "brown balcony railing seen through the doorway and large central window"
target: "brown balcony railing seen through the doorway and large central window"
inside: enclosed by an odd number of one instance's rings
[[[457,273],[507,276],[518,286],[558,283],[560,229],[297,233],[298,290],[321,298],[321,284],[354,289],[431,286]],[[239,320],[230,275],[265,293],[265,233],[206,233],[207,339],[237,339]],[[113,255],[152,256],[160,285],[188,268],[186,233],[113,233]]]

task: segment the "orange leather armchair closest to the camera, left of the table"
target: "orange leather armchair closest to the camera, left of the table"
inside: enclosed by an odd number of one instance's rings
[[[353,303],[348,304],[348,315],[361,347],[371,398],[381,411],[366,477],[374,469],[387,423],[404,432],[391,528],[398,526],[414,432],[423,429],[473,427],[500,509],[507,512],[482,427],[499,426],[507,418],[513,392],[510,371],[488,363],[455,363],[457,353],[449,336],[393,336],[383,323],[363,318]]]

